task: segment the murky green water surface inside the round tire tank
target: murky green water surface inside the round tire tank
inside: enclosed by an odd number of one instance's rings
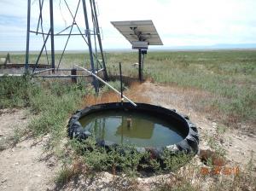
[[[165,147],[183,140],[166,120],[139,112],[102,111],[79,120],[97,139],[136,147]],[[131,126],[130,126],[131,125]]]

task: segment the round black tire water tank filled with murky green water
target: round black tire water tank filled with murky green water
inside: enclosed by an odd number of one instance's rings
[[[199,136],[189,118],[165,107],[113,102],[85,107],[68,123],[68,136],[79,140],[95,136],[105,147],[131,145],[137,151],[197,153]],[[158,155],[158,154],[157,154]]]

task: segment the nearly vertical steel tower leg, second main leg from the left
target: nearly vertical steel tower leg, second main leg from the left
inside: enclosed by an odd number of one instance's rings
[[[52,73],[55,73],[55,30],[54,30],[53,0],[49,0],[49,20],[50,20],[51,68],[53,68]]]

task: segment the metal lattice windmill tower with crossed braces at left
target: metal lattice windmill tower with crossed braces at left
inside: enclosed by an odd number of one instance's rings
[[[44,43],[40,52],[38,54],[38,58],[35,61],[32,71],[35,72],[38,69],[38,61],[40,60],[41,55],[45,52],[47,62],[49,65],[49,69],[51,69],[52,73],[55,73],[55,70],[59,70],[61,65],[61,60],[65,51],[67,49],[67,43],[69,42],[71,36],[81,36],[83,38],[84,43],[88,45],[89,55],[90,55],[90,70],[93,73],[98,73],[100,71],[103,72],[103,77],[108,79],[105,56],[102,49],[102,35],[100,32],[99,22],[97,18],[96,11],[96,3],[95,0],[77,0],[77,7],[75,12],[73,13],[70,9],[67,0],[60,0],[60,3],[65,3],[67,6],[69,14],[73,18],[73,22],[70,26],[65,27],[60,32],[55,32],[54,25],[54,0],[49,0],[49,27],[45,30],[43,26],[43,9],[45,1],[48,0],[37,0],[39,6],[39,15],[38,15],[38,26],[35,30],[31,30],[31,11],[32,11],[32,3],[31,0],[27,1],[27,32],[26,32],[26,62],[25,67],[26,71],[29,68],[29,55],[30,55],[30,35],[42,35],[44,39]],[[35,1],[34,1],[35,2]],[[34,3],[33,2],[33,3]],[[76,18],[78,16],[79,9],[83,9],[84,14],[84,24],[85,28],[82,30],[78,23],[76,22]],[[78,32],[73,33],[73,28],[76,27]],[[91,27],[91,28],[90,28]],[[47,32],[46,32],[47,31]],[[66,43],[64,48],[61,51],[61,58],[56,65],[55,60],[55,37],[61,36],[63,38],[66,37]],[[47,50],[46,43],[50,40],[50,50]],[[93,84],[95,89],[98,89],[98,83],[96,78],[93,78]]]

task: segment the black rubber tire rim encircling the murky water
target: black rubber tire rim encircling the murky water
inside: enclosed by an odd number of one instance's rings
[[[84,130],[83,126],[79,123],[79,119],[84,118],[90,113],[97,113],[104,110],[117,110],[125,109],[126,111],[140,111],[144,113],[152,113],[162,119],[170,121],[170,123],[179,124],[179,130],[183,134],[183,140],[166,147],[157,147],[157,148],[137,148],[138,152],[149,151],[155,156],[160,156],[165,149],[173,153],[184,152],[184,153],[198,153],[199,151],[199,134],[196,128],[196,125],[190,122],[189,117],[183,114],[177,113],[174,109],[167,109],[165,107],[155,106],[146,103],[136,103],[137,107],[134,107],[129,102],[111,102],[97,104],[90,107],[85,107],[82,110],[78,110],[73,114],[71,119],[67,124],[67,134],[73,139],[83,140],[92,136],[88,130]],[[111,148],[116,146],[115,142],[97,140],[97,144],[103,147]]]

